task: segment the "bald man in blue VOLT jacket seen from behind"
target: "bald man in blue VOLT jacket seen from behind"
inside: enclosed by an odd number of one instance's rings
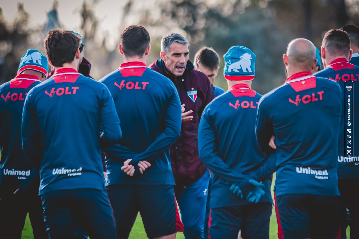
[[[275,194],[284,238],[335,239],[339,229],[337,140],[341,89],[335,81],[312,76],[312,42],[298,38],[283,56],[288,79],[264,95],[256,135],[269,156],[255,174],[276,171]],[[276,150],[269,146],[275,136]]]

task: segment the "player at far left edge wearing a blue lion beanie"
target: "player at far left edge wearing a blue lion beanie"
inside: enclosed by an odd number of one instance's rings
[[[38,195],[40,181],[32,180],[38,178],[38,173],[21,145],[25,98],[34,86],[46,80],[47,67],[46,56],[30,49],[21,58],[18,75],[0,86],[0,238],[20,239],[28,212],[34,237],[48,238]]]

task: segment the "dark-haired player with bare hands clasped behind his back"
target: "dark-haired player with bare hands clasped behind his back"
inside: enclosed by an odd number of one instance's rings
[[[123,137],[105,149],[107,193],[118,238],[128,238],[138,212],[149,238],[174,238],[176,202],[169,147],[180,136],[181,103],[167,77],[146,66],[150,36],[133,25],[121,34],[124,63],[100,80],[111,92]]]

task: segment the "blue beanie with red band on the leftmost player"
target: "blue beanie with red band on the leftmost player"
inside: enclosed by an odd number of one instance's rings
[[[27,53],[21,57],[18,74],[28,69],[47,75],[48,65],[46,56],[35,49],[27,50]]]

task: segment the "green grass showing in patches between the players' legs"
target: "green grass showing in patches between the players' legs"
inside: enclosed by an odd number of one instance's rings
[[[274,187],[274,180],[275,180],[275,176],[273,177],[272,192],[273,192],[273,187]],[[275,210],[274,210],[274,206],[273,206],[272,216],[270,218],[269,238],[270,239],[278,239],[277,232],[278,232],[278,225],[277,225],[277,219],[275,216]],[[350,238],[349,227],[346,229],[346,235],[347,235],[347,238]],[[24,230],[23,230],[21,238],[22,239],[33,239],[34,238],[34,236],[32,234],[31,223],[30,223],[28,216],[25,221],[25,226],[24,226]],[[143,227],[141,216],[138,215],[137,219],[135,221],[134,227],[132,228],[132,231],[130,234],[130,239],[146,239],[146,238],[148,238],[148,237],[146,236],[146,232]],[[184,239],[184,238],[185,237],[183,236],[183,233],[177,233],[176,239]]]

